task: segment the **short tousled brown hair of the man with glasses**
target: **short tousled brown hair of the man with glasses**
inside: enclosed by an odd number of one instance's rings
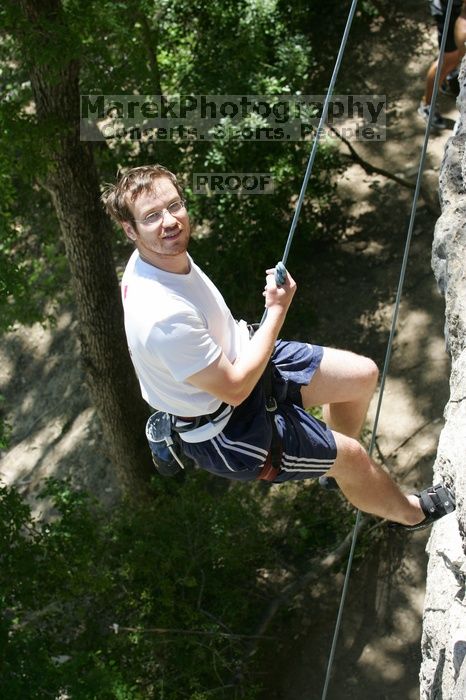
[[[120,224],[124,221],[134,223],[130,202],[134,202],[142,192],[152,192],[155,181],[162,177],[170,180],[183,198],[183,191],[176,175],[170,170],[158,164],[141,165],[131,168],[126,173],[119,173],[116,184],[107,185],[101,196],[107,213]]]

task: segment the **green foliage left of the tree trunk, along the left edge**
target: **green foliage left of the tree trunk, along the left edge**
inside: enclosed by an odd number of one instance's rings
[[[19,22],[0,8],[3,20]],[[3,10],[3,13],[2,13]],[[63,299],[69,275],[48,194],[41,188],[48,161],[43,133],[31,109],[25,65],[16,59],[9,34],[0,37],[0,332],[16,322],[52,318],[53,302]]]

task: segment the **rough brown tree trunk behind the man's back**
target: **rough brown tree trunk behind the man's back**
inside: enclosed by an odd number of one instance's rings
[[[46,187],[70,265],[86,380],[117,477],[124,491],[141,494],[154,473],[144,437],[148,408],[127,350],[112,228],[91,144],[79,138],[79,46],[72,45],[59,0],[20,0],[20,7],[27,25],[18,38],[46,134]]]

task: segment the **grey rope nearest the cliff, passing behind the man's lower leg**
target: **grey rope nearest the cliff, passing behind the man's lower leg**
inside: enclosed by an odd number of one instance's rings
[[[428,118],[427,124],[426,124],[426,129],[425,129],[425,133],[424,133],[424,141],[423,141],[423,145],[422,145],[421,156],[419,159],[419,168],[418,168],[417,179],[416,179],[416,187],[414,190],[413,202],[412,202],[412,206],[411,206],[411,214],[410,214],[410,218],[409,218],[408,232],[406,234],[406,242],[405,242],[405,248],[404,248],[404,253],[403,253],[403,261],[402,261],[402,265],[401,265],[400,278],[399,278],[399,282],[398,282],[398,289],[397,289],[397,294],[396,294],[396,299],[395,299],[395,307],[394,307],[394,311],[393,311],[392,323],[391,323],[391,328],[390,328],[390,336],[388,339],[387,350],[386,350],[386,354],[385,354],[385,362],[384,362],[384,367],[383,367],[383,371],[382,371],[382,378],[381,378],[381,382],[380,382],[379,398],[378,398],[378,402],[377,402],[377,409],[376,409],[375,418],[374,418],[374,425],[372,428],[372,436],[371,436],[370,446],[369,446],[369,450],[368,450],[369,455],[372,455],[372,452],[373,452],[374,447],[375,447],[377,426],[378,426],[378,422],[379,422],[383,393],[384,393],[384,389],[385,389],[385,381],[387,378],[388,368],[390,365],[390,360],[391,360],[391,355],[392,355],[393,339],[395,337],[395,331],[396,331],[396,326],[397,326],[397,321],[398,321],[398,314],[399,314],[400,304],[401,304],[401,294],[403,291],[403,285],[404,285],[404,281],[405,281],[405,277],[406,277],[406,268],[407,268],[407,264],[408,264],[409,249],[410,249],[410,245],[411,245],[411,238],[412,238],[412,233],[413,233],[413,228],[414,228],[414,221],[416,219],[416,213],[417,213],[417,203],[418,203],[419,194],[420,194],[420,190],[421,190],[421,180],[422,180],[422,175],[423,175],[424,165],[425,165],[425,160],[426,160],[426,155],[427,155],[427,145],[429,143],[430,129],[431,129],[434,113],[435,113],[435,104],[437,101],[437,94],[438,94],[438,88],[439,88],[439,83],[440,83],[440,72],[441,72],[441,66],[443,65],[443,55],[445,53],[445,45],[446,45],[446,40],[447,40],[447,29],[448,29],[448,25],[450,23],[452,6],[453,6],[453,0],[448,0],[448,5],[447,5],[446,13],[445,13],[444,30],[442,33],[442,40],[440,42],[437,71],[435,73],[435,79],[434,79],[431,108],[429,110],[429,118]],[[348,591],[349,578],[350,578],[351,567],[352,567],[353,558],[354,558],[354,551],[355,551],[358,532],[359,532],[359,528],[360,528],[360,521],[361,521],[361,512],[358,510],[357,514],[356,514],[356,522],[355,522],[354,529],[353,529],[351,549],[350,549],[350,553],[348,556],[348,564],[347,564],[345,579],[344,579],[344,583],[343,583],[342,595],[341,595],[341,599],[340,599],[340,606],[338,609],[337,621],[335,624],[335,631],[334,631],[334,635],[333,635],[332,646],[331,646],[328,664],[327,664],[327,673],[326,673],[326,677],[325,677],[324,689],[322,691],[322,700],[325,700],[325,698],[327,697],[327,690],[328,690],[328,686],[329,686],[329,682],[330,682],[330,676],[331,676],[332,667],[333,667],[333,660],[335,657],[335,650],[336,650],[338,635],[339,635],[340,626],[341,626],[341,619],[343,616],[343,609],[345,606],[346,594]]]

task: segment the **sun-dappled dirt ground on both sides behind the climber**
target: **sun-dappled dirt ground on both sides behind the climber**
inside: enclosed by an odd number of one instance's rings
[[[359,94],[387,96],[386,140],[353,145],[367,161],[412,180],[424,136],[416,109],[436,40],[426,3],[394,5],[400,9],[390,21],[381,18],[367,42],[359,49],[353,46],[360,60],[356,56],[351,66],[344,66],[342,76]],[[454,100],[442,96],[439,102],[451,129]],[[409,489],[430,482],[448,400],[444,305],[430,254],[437,175],[450,129],[432,134],[430,140],[424,180],[430,206],[421,200],[418,207],[374,454]],[[341,345],[344,338],[347,348],[370,355],[382,367],[412,192],[369,176],[358,165],[342,175],[339,191],[348,202],[345,240],[332,255],[323,249],[314,256],[314,281],[306,285],[302,303],[321,310],[314,327],[317,342]],[[4,339],[0,393],[6,399],[12,441],[1,455],[0,478],[33,497],[44,476],[72,473],[77,483],[111,500],[117,487],[81,390],[74,329],[72,315],[64,313],[53,330],[18,328]],[[334,497],[322,492],[322,498]],[[425,532],[393,536],[356,562],[329,700],[419,698],[427,538]],[[264,700],[321,697],[341,585],[342,576],[332,575],[287,612],[273,662],[276,671],[269,676]]]

